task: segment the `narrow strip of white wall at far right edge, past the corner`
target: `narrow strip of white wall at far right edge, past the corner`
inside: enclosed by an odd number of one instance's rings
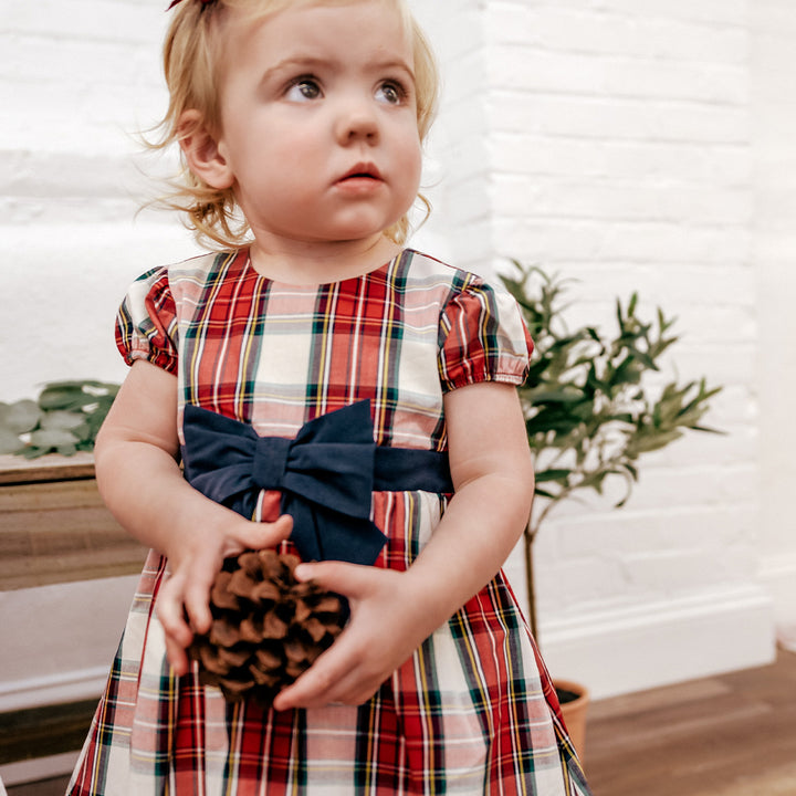
[[[783,640],[796,646],[796,13],[788,0],[751,3],[752,135],[755,142],[754,261],[760,356],[761,576],[775,597]]]

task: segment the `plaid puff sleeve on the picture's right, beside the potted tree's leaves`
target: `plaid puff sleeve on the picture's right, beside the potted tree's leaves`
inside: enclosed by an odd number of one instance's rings
[[[439,352],[443,392],[479,381],[520,386],[533,341],[514,298],[467,274],[442,311]]]

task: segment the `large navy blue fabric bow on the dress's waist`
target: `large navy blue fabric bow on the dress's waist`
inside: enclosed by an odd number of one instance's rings
[[[182,430],[191,485],[248,519],[261,490],[280,490],[304,561],[373,564],[378,557],[387,537],[370,520],[370,401],[310,420],[292,440],[260,437],[248,423],[192,405],[185,407]]]

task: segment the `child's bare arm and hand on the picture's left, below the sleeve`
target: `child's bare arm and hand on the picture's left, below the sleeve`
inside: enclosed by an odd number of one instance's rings
[[[210,587],[223,558],[275,546],[292,522],[253,523],[213,503],[182,478],[178,455],[177,378],[136,362],[97,436],[97,485],[123,527],[168,557],[157,611],[169,661],[184,674],[191,627],[210,629]]]

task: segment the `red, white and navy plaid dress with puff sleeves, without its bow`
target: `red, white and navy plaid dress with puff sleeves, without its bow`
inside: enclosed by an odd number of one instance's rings
[[[294,437],[369,399],[379,446],[443,451],[443,395],[522,383],[532,347],[516,304],[413,251],[364,276],[296,286],[242,250],[151,271],[117,320],[126,360],[177,375],[193,404]],[[145,496],[143,496],[145,499]],[[263,493],[260,520],[279,513]],[[451,496],[376,492],[388,536],[376,566],[405,569]],[[149,554],[70,794],[352,796],[589,793],[555,692],[502,573],[436,630],[366,704],[276,713],[228,704],[169,670]]]

